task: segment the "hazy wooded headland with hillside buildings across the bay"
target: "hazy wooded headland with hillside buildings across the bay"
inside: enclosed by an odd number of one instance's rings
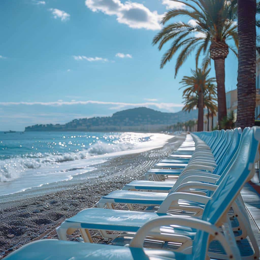
[[[47,124],[25,127],[25,131],[122,131],[122,132],[157,132],[177,122],[197,119],[198,111],[190,113],[164,113],[146,107],[122,110],[112,116],[74,119],[64,125]]]

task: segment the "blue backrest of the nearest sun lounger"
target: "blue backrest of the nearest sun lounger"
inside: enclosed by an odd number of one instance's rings
[[[211,199],[206,204],[202,219],[218,225],[221,217],[227,214],[232,202],[243,185],[254,175],[254,162],[259,159],[260,127],[243,131],[238,150],[229,166],[228,174],[221,181]],[[199,230],[193,242],[193,260],[206,259],[209,234]]]

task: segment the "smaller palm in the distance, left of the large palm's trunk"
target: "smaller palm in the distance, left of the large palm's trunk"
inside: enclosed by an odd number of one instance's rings
[[[215,82],[216,79],[209,77],[210,69],[205,71],[203,69],[197,68],[196,70],[191,70],[191,73],[192,76],[190,77],[184,76],[183,79],[180,81],[180,83],[183,84],[181,88],[186,87],[186,89],[184,89],[183,91],[183,96],[186,97],[186,101],[187,101],[187,104],[185,104],[185,106],[188,106],[189,104],[194,102],[194,99],[196,99],[196,95],[198,96],[198,102],[196,104],[199,110],[198,131],[203,131],[203,110],[204,110],[203,95],[204,93],[206,93],[207,87],[213,84],[213,82]],[[195,96],[193,95],[194,93],[196,93]]]

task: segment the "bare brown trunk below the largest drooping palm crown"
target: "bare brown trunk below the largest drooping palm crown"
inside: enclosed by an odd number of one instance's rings
[[[227,115],[225,92],[225,59],[216,59],[215,71],[218,90],[218,123]]]

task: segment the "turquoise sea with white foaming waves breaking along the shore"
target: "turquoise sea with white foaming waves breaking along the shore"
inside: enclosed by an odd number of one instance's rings
[[[0,196],[79,174],[87,178],[95,165],[111,157],[159,148],[172,137],[132,132],[0,132]]]

